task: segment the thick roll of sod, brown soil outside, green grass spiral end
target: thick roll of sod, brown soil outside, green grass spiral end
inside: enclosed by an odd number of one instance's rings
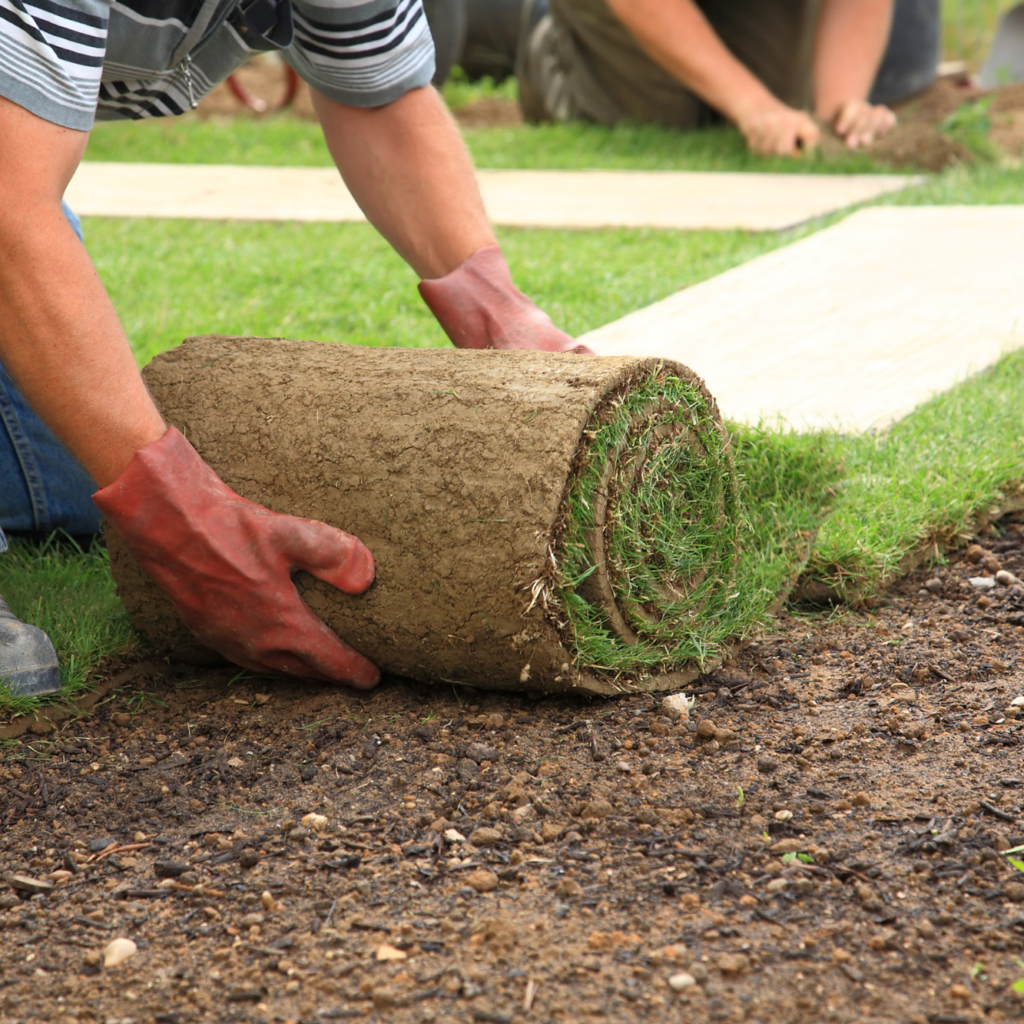
[[[742,626],[729,440],[679,364],[205,337],[144,377],[230,487],[369,546],[365,595],[296,585],[385,673],[678,688]],[[135,625],[188,649],[170,602],[110,542]]]

